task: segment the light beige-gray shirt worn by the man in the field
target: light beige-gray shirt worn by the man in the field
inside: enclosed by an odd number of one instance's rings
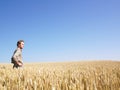
[[[14,61],[21,61],[22,62],[22,49],[17,48],[12,56],[12,63],[14,63]]]

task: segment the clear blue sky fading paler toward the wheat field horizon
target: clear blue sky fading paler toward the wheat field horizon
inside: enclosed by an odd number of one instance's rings
[[[120,0],[0,0],[0,62],[120,60]]]

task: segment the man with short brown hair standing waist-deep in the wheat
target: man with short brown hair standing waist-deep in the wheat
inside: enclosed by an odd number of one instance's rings
[[[23,49],[23,47],[24,47],[24,41],[19,40],[17,42],[17,49],[14,51],[13,56],[11,58],[11,63],[14,64],[13,69],[23,66],[23,63],[22,63],[22,49]]]

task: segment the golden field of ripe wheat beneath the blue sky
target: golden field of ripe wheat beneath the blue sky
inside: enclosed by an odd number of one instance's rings
[[[0,64],[0,90],[120,90],[120,62]]]

